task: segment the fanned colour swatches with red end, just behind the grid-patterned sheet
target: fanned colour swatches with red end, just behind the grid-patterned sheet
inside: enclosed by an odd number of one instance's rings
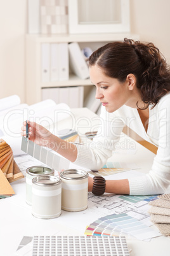
[[[84,234],[88,236],[132,236],[139,240],[160,236],[158,231],[153,231],[150,227],[126,213],[99,218],[87,227]]]

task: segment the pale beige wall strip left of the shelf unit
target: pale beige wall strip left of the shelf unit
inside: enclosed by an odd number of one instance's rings
[[[25,94],[27,0],[0,0],[0,98]]]

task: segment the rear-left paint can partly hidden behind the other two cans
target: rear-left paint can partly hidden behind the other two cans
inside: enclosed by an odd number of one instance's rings
[[[32,205],[32,179],[41,175],[54,175],[55,170],[46,166],[32,166],[26,169],[26,203]]]

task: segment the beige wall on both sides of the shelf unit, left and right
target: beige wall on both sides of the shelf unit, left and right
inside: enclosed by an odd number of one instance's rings
[[[131,32],[153,41],[170,63],[170,1],[130,0]],[[0,98],[18,94],[25,101],[27,0],[0,0]]]

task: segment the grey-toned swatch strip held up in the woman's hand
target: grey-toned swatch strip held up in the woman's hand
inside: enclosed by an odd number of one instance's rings
[[[62,171],[62,169],[69,169],[69,160],[60,157],[53,150],[49,150],[48,148],[39,146],[30,140],[27,141],[25,137],[22,138],[21,149],[23,150],[23,152],[31,155],[37,160],[40,160],[47,166],[54,168],[56,171]]]

